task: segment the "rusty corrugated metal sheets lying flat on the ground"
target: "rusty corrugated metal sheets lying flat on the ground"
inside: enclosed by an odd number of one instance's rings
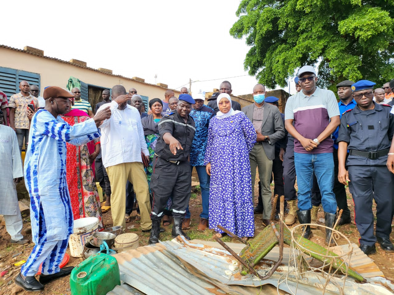
[[[181,242],[180,242],[181,241]],[[261,281],[253,275],[241,276],[237,262],[227,251],[185,240],[161,242],[155,246],[139,247],[115,255],[121,271],[121,280],[145,294],[278,294],[278,281],[284,279],[288,266],[279,267],[268,280]],[[218,245],[218,244],[217,244]],[[232,243],[229,243],[233,247]],[[269,266],[259,265],[261,275]],[[291,269],[290,269],[291,270]],[[343,278],[333,278],[336,284],[343,285]],[[305,275],[297,280],[294,272],[279,288],[287,293],[319,294],[325,282],[316,273]],[[271,284],[271,285],[264,285]],[[263,286],[264,285],[264,286]],[[296,287],[297,285],[297,287]],[[257,288],[256,288],[257,287]],[[380,286],[357,284],[346,280],[346,294],[391,294]],[[279,294],[284,294],[279,290]],[[339,294],[335,284],[326,288],[325,294]]]

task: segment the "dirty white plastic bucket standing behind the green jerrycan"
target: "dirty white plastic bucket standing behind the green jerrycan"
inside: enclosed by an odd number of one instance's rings
[[[70,235],[69,246],[72,257],[82,257],[84,245],[99,230],[99,219],[86,217],[74,220],[74,233]]]

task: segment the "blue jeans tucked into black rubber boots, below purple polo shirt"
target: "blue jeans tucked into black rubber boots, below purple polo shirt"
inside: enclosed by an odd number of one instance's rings
[[[333,153],[294,153],[294,164],[297,173],[298,209],[302,211],[312,208],[311,190],[313,173],[315,173],[322,194],[323,210],[324,212],[335,214]]]

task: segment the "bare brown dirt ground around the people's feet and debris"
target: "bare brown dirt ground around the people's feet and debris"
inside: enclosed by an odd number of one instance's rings
[[[273,188],[273,187],[271,187]],[[257,192],[257,187],[255,187],[255,191]],[[354,224],[354,206],[353,201],[351,199],[351,195],[348,192],[348,205],[351,211],[352,223],[343,225],[339,228],[340,232],[345,234],[345,236],[353,243],[358,245],[359,232],[357,227]],[[213,230],[207,229],[205,232],[198,232],[197,227],[199,224],[199,214],[201,213],[201,194],[198,191],[195,191],[191,194],[190,199],[190,212],[191,212],[191,228],[190,230],[186,230],[187,234],[191,239],[201,239],[201,240],[212,240]],[[375,213],[375,204],[374,204],[374,213]],[[149,239],[149,233],[141,232],[141,228],[139,227],[139,221],[135,220],[136,211],[132,212],[132,220],[130,223],[126,224],[125,232],[134,232],[139,236],[139,245],[147,245]],[[105,227],[112,227],[112,218],[111,211],[108,211],[103,214],[104,225]],[[319,210],[318,219],[321,219],[322,224],[324,223],[324,212],[322,209]],[[32,239],[31,230],[30,229],[30,218],[28,215],[23,214],[23,234],[25,238]],[[294,223],[294,225],[299,224],[298,221]],[[294,226],[293,225],[293,226]],[[170,240],[171,237],[171,225],[165,227],[165,232],[160,234],[160,240]],[[256,234],[260,232],[260,230],[264,229],[262,225],[262,214],[255,214],[255,231]],[[323,245],[324,243],[324,233],[321,230],[312,230],[313,237],[311,240],[316,243],[320,243]],[[391,234],[391,240],[393,240],[394,234]],[[225,242],[238,242],[235,239],[232,239],[228,236],[223,238]],[[341,242],[338,242],[339,244]],[[30,292],[22,291],[21,288],[14,284],[14,278],[18,275],[20,271],[20,266],[14,266],[16,262],[20,260],[26,260],[28,255],[30,254],[33,248],[33,243],[30,242],[27,245],[11,245],[10,236],[7,234],[6,229],[4,227],[4,221],[0,223],[0,273],[7,268],[7,266],[11,266],[8,269],[8,272],[0,277],[0,294],[11,295],[11,294],[20,294],[27,295]],[[377,266],[383,271],[386,278],[394,281],[394,266],[393,266],[393,258],[394,253],[387,253],[383,251],[379,244],[376,244],[377,253],[370,255],[370,258],[375,261]],[[69,249],[67,249],[67,253],[70,254]],[[82,262],[82,258],[73,258],[70,257],[70,261],[67,266],[75,266]],[[70,295],[70,283],[69,277],[60,278],[55,280],[45,286],[44,291],[36,292],[35,294],[47,294],[47,295]]]

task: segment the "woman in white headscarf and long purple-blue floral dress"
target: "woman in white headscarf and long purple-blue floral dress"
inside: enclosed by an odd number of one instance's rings
[[[252,181],[249,152],[256,142],[256,131],[243,112],[231,108],[231,98],[217,98],[219,112],[210,120],[205,161],[211,176],[209,227],[221,237],[217,225],[247,240],[253,237]]]

